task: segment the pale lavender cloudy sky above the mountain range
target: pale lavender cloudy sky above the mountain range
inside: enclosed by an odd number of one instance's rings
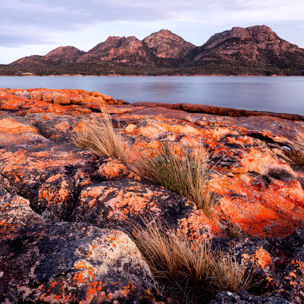
[[[304,47],[303,0],[1,0],[0,64],[59,46],[88,51],[108,36],[169,29],[200,46],[233,26],[267,25]]]

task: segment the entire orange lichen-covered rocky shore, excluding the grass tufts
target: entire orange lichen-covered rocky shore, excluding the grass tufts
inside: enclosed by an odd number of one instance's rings
[[[133,146],[145,137],[157,147],[167,132],[184,147],[204,138],[216,163],[212,214],[74,146],[71,134],[101,106]],[[212,304],[303,303],[303,188],[303,116],[0,88],[0,303],[174,303],[123,232],[145,215],[256,270],[252,290],[219,292]]]

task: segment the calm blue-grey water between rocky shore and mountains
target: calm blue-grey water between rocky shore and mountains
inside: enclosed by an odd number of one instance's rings
[[[127,102],[188,102],[304,115],[304,77],[0,77],[4,88],[79,88]]]

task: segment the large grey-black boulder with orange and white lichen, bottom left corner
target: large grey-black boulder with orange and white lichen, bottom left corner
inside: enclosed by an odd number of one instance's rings
[[[2,188],[0,210],[1,302],[155,303],[157,283],[125,233],[52,224]]]

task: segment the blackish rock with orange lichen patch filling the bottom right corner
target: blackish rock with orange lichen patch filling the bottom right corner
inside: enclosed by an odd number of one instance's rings
[[[275,292],[275,299],[300,304],[304,299],[303,238],[304,230],[300,229],[286,238],[216,238],[212,247],[234,256],[248,271],[255,269],[260,294]]]

